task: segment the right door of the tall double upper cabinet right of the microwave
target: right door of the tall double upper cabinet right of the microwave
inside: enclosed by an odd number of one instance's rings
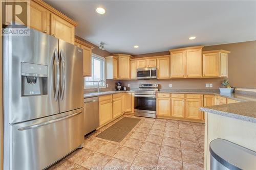
[[[186,77],[202,77],[202,48],[186,50]]]

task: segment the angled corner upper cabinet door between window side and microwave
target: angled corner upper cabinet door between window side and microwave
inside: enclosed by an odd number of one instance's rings
[[[130,79],[130,57],[119,56],[119,78]]]

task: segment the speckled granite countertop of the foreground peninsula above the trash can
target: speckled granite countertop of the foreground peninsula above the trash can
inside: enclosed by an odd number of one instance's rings
[[[256,123],[256,102],[231,103],[200,107],[201,111]]]

